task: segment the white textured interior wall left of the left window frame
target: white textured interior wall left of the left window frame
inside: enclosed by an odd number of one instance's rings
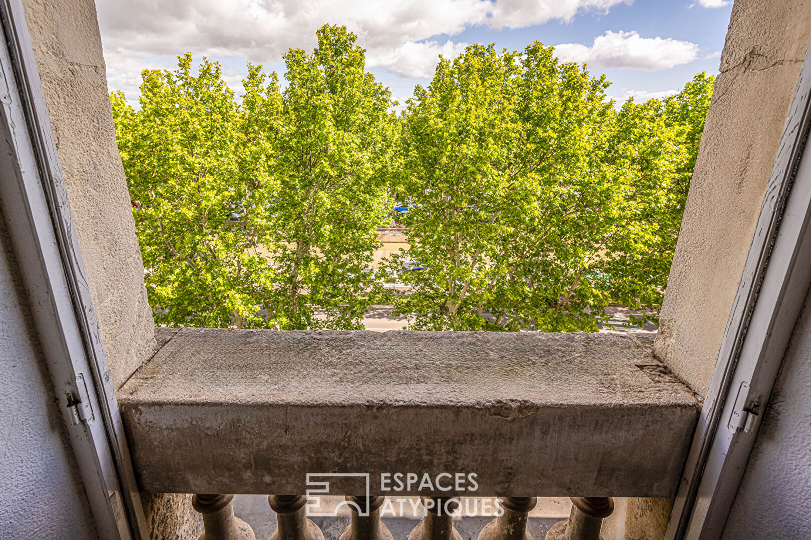
[[[97,538],[0,213],[0,538]]]

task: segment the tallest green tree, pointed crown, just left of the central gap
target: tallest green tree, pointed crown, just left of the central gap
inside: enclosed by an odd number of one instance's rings
[[[396,117],[387,87],[365,71],[365,51],[346,28],[325,25],[311,54],[284,55],[287,87],[249,95],[247,117],[272,138],[268,175],[273,227],[265,247],[285,279],[270,304],[283,329],[363,328],[363,314],[380,291],[371,272],[376,227],[391,198],[384,174]],[[250,87],[261,75],[251,71]],[[278,111],[278,113],[276,113]],[[371,294],[370,294],[371,293]],[[325,320],[315,310],[325,310]]]

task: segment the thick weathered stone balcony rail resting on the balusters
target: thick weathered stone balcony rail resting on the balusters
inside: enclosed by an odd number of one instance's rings
[[[620,334],[187,328],[118,400],[144,491],[207,493],[466,471],[477,495],[672,495],[698,411]]]

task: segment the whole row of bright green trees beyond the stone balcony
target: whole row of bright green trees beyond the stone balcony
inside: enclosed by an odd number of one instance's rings
[[[713,77],[618,110],[551,47],[472,45],[397,117],[354,34],[317,37],[283,88],[249,65],[241,100],[189,54],[144,71],[138,111],[111,95],[157,322],[361,328],[384,280],[414,329],[594,331],[609,304],[657,321]],[[384,275],[393,193],[410,250]]]

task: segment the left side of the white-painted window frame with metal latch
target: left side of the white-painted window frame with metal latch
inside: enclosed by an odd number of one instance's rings
[[[21,0],[0,25],[0,206],[45,363],[99,538],[148,540]]]

